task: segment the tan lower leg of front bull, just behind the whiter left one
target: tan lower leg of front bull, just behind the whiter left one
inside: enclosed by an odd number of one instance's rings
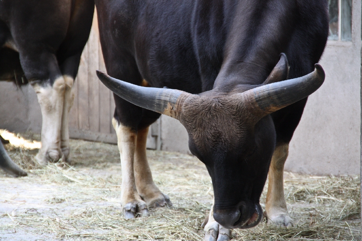
[[[133,166],[137,192],[146,202],[147,207],[172,205],[169,197],[161,193],[160,189],[153,182],[146,156],[147,133],[148,127],[137,132]]]

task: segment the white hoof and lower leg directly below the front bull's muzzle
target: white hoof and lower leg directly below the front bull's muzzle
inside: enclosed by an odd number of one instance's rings
[[[231,229],[224,228],[214,219],[214,203],[212,203],[209,216],[203,221],[205,230],[204,241],[228,241],[231,239]]]

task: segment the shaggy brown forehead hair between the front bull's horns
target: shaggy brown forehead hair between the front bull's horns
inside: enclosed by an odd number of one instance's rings
[[[180,122],[199,151],[230,151],[252,134],[254,117],[237,94],[217,98],[189,97],[182,103]]]

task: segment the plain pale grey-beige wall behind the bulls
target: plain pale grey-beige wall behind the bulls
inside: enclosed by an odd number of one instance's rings
[[[359,174],[361,1],[358,0],[353,1],[353,23],[352,42],[330,41],[327,44],[321,59],[326,72],[325,83],[307,102],[290,143],[290,155],[285,166],[288,171]],[[40,107],[30,86],[17,90],[12,83],[0,83],[0,103],[0,128],[40,132]],[[79,104],[77,106],[82,108]],[[180,122],[163,115],[160,125],[161,149],[190,153],[188,135]],[[102,134],[79,127],[71,134],[115,142],[112,130]]]

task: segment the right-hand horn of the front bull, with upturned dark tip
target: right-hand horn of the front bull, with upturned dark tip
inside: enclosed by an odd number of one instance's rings
[[[315,64],[315,70],[308,75],[262,85],[241,93],[242,102],[250,105],[249,110],[255,116],[264,117],[306,98],[323,84],[324,78],[323,68]]]

